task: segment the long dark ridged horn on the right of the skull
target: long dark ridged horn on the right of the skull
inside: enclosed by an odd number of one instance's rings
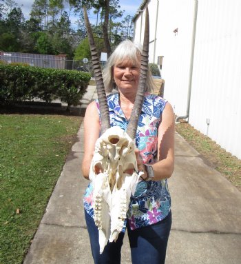
[[[132,109],[132,114],[127,127],[127,134],[135,139],[136,129],[140,116],[141,109],[143,108],[143,101],[145,96],[147,72],[148,72],[148,53],[149,53],[149,11],[146,6],[145,11],[145,33],[143,41],[143,54],[140,60],[140,80],[138,85],[138,91],[136,94],[136,100]]]

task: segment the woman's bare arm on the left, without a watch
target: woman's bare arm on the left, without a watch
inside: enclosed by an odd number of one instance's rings
[[[82,161],[82,174],[89,179],[90,163],[94,155],[94,145],[100,134],[100,119],[96,102],[87,106],[84,119],[84,156]]]

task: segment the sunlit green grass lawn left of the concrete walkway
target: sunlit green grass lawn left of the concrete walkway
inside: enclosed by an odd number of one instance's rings
[[[80,116],[0,114],[0,263],[22,263]]]

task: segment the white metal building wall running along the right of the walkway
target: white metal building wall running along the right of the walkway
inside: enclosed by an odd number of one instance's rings
[[[158,56],[164,56],[162,70],[162,77],[165,79],[164,97],[174,106],[175,113],[182,116],[187,110],[194,0],[149,1],[149,10],[152,10],[151,30],[156,27],[154,6],[158,6],[156,50],[150,43],[149,61],[154,54],[155,63]],[[240,0],[198,0],[189,112],[189,123],[194,128],[208,134],[222,148],[239,159],[241,159],[240,14]],[[140,28],[140,21],[141,16],[135,21],[136,32],[144,30],[144,25]],[[176,28],[178,32],[175,35],[173,31]],[[135,34],[134,41],[139,40],[140,34]]]

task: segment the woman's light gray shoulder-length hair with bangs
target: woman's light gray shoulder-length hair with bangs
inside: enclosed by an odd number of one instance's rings
[[[103,71],[103,80],[107,94],[112,93],[114,89],[117,89],[116,84],[114,83],[114,76],[113,76],[114,65],[125,59],[129,59],[130,61],[132,61],[132,63],[138,64],[140,63],[141,54],[142,54],[142,47],[129,40],[125,40],[121,42],[116,47],[112,55],[107,60],[105,69]],[[151,78],[151,70],[148,67],[145,92],[152,92],[153,87],[154,87],[154,81]]]

